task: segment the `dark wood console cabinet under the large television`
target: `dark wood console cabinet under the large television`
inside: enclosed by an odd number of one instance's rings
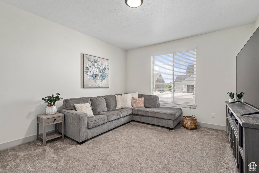
[[[227,137],[238,172],[259,173],[259,114],[242,102],[226,103]]]

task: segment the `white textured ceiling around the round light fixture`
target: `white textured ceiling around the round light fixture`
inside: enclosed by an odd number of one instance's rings
[[[0,0],[124,50],[254,23],[258,0]]]

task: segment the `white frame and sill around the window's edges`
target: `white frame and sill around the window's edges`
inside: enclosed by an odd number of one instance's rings
[[[192,51],[192,50],[195,50],[196,54],[197,54],[197,47],[192,47],[189,49],[178,50],[178,51],[169,51],[169,52],[151,54],[151,94],[154,94],[154,61],[153,61],[154,56],[166,55],[166,54],[173,54],[173,56],[174,56],[174,53],[181,53],[181,52],[187,52],[187,51]],[[195,66],[196,66],[196,57],[195,57]],[[196,76],[196,72],[195,72],[195,76]],[[196,98],[196,80],[195,80],[194,90],[195,90],[195,98]],[[195,103],[179,103],[179,102],[168,103],[168,102],[160,101],[160,106],[183,107],[183,108],[194,108],[194,109],[196,109],[196,107],[197,107],[196,101],[195,101]]]

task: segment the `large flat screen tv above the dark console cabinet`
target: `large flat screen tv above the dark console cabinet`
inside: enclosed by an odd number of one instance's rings
[[[236,93],[241,92],[244,102],[259,108],[259,27],[236,56]]]

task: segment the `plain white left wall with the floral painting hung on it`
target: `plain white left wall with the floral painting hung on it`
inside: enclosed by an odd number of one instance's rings
[[[110,88],[82,88],[83,53],[110,60]],[[0,2],[0,81],[1,145],[36,134],[42,97],[124,93],[126,51]]]

